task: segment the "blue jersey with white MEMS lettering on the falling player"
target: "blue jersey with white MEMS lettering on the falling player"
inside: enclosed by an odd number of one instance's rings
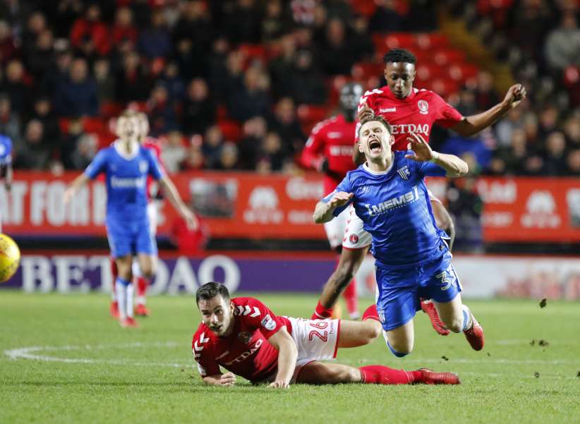
[[[446,171],[431,162],[407,159],[407,153],[394,152],[392,166],[384,172],[358,166],[335,190],[354,193],[351,202],[365,231],[373,236],[371,251],[377,266],[420,265],[445,253],[441,238],[446,234],[435,225],[423,177],[445,176]],[[334,210],[334,216],[347,206]]]

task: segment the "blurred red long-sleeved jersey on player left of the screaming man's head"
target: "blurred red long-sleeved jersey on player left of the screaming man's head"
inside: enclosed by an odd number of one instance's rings
[[[352,162],[353,134],[356,122],[348,122],[343,115],[325,119],[313,128],[306,141],[300,162],[309,168],[317,168],[322,157],[328,159],[331,175],[325,174],[325,193],[330,193],[346,175],[355,169]]]

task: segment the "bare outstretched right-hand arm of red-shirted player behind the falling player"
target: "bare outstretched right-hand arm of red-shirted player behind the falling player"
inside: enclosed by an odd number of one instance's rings
[[[461,135],[469,136],[493,125],[502,119],[510,109],[517,107],[526,98],[526,88],[524,85],[515,84],[509,87],[502,102],[494,107],[481,112],[481,114],[466,116],[461,122],[452,126],[451,129]]]

